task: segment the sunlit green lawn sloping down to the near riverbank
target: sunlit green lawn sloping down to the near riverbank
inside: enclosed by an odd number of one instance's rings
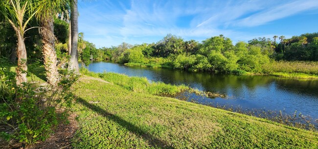
[[[120,75],[116,77],[125,81]],[[74,86],[74,95],[78,97],[74,109],[80,129],[72,146],[79,149],[318,148],[317,131],[134,92],[89,77]]]

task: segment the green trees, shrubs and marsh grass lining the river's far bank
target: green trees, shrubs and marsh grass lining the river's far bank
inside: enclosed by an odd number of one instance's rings
[[[318,79],[318,33],[306,33],[285,39],[277,36],[254,38],[233,44],[223,35],[202,42],[184,41],[168,34],[152,44],[122,43],[112,48],[84,49],[82,62],[109,60],[126,66],[169,68],[190,72],[232,75],[273,75]],[[85,53],[85,54],[84,54]]]

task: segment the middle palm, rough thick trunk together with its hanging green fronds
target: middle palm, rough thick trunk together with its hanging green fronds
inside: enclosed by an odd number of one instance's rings
[[[69,5],[69,0],[37,0],[37,18],[40,21],[40,35],[43,42],[43,56],[48,83],[56,85],[59,80],[55,53],[54,16],[61,8]]]

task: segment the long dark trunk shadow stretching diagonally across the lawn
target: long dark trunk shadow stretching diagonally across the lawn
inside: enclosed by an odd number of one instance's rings
[[[143,138],[144,140],[147,140],[150,145],[152,147],[155,148],[162,148],[162,149],[174,149],[173,147],[171,147],[167,142],[164,142],[158,138],[156,138],[155,136],[147,133],[146,131],[140,129],[139,127],[137,127],[135,124],[132,124],[130,122],[127,122],[126,120],[120,118],[119,116],[116,116],[112,113],[107,112],[106,110],[93,105],[89,102],[87,102],[86,100],[82,99],[82,98],[78,98],[77,101],[79,103],[81,103],[82,105],[90,108],[91,110],[103,115],[105,118],[109,118],[111,120],[113,120],[114,122],[116,122],[117,124],[120,124],[121,126],[125,127],[127,130],[129,130],[130,132],[136,134],[137,136]]]

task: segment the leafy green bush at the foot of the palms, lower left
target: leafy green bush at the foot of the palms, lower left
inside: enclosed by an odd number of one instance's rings
[[[13,131],[2,131],[0,136],[29,144],[44,141],[59,123],[56,109],[71,105],[70,87],[78,78],[72,74],[63,72],[56,87],[39,86],[36,83],[17,86],[16,73],[1,66],[0,124],[11,127]]]

